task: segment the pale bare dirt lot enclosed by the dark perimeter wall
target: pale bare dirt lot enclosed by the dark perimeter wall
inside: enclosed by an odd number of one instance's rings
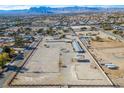
[[[77,53],[73,51],[71,43],[46,42],[46,38],[40,43],[11,85],[111,85],[97,66],[95,66],[96,68],[91,67],[94,62],[87,53],[83,53],[83,55],[89,62],[72,61]],[[45,47],[44,44],[49,48]]]

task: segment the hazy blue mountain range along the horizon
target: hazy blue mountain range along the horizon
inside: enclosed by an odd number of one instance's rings
[[[124,6],[121,7],[84,7],[84,6],[68,6],[68,7],[31,7],[24,10],[0,10],[0,14],[59,14],[59,13],[81,13],[81,12],[115,12],[123,11]]]

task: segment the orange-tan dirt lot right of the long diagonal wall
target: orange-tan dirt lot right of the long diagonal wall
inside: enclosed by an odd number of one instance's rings
[[[124,86],[124,43],[108,40],[103,42],[92,41],[92,54],[100,63],[113,63],[119,67],[117,70],[111,70],[103,67],[115,84]]]

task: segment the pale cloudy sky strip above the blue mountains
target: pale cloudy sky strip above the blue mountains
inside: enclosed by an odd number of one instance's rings
[[[124,5],[0,5],[0,10],[24,10],[31,7],[50,7],[50,8],[62,8],[62,7],[101,7],[101,8],[124,8]]]

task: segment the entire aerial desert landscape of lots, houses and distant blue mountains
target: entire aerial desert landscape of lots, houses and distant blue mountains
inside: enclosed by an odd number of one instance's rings
[[[1,88],[124,87],[124,5],[6,7]]]

